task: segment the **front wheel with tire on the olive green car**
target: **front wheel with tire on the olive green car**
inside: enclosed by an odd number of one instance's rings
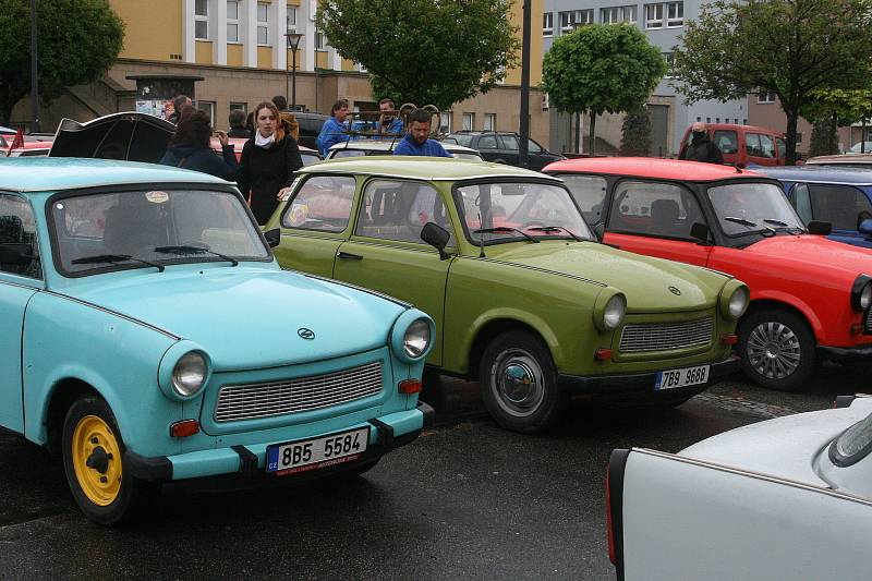
[[[509,331],[494,339],[480,372],[485,408],[506,429],[536,434],[566,411],[569,398],[557,385],[550,352],[529,332]]]

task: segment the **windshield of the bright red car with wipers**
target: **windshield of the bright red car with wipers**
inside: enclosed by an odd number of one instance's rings
[[[780,187],[772,183],[731,183],[708,189],[717,221],[727,235],[804,231]]]

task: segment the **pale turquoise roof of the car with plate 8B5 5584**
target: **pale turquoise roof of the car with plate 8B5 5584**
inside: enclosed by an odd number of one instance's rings
[[[16,157],[0,161],[0,190],[12,192],[161,182],[228,183],[199,171],[137,161],[75,157]]]

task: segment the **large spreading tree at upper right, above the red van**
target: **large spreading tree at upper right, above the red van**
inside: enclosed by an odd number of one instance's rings
[[[716,0],[685,23],[676,88],[690,102],[774,93],[787,116],[787,162],[797,122],[818,88],[863,88],[872,70],[870,0]]]

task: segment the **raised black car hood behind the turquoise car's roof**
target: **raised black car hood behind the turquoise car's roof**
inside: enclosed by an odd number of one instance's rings
[[[175,125],[146,113],[112,113],[86,123],[63,119],[48,155],[157,164],[173,133]]]

